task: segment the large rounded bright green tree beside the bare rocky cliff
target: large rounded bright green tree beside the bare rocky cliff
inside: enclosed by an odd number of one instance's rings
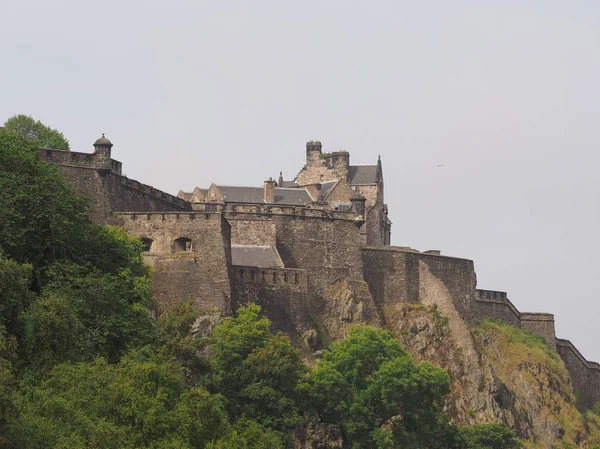
[[[321,420],[340,426],[344,447],[420,448],[439,442],[449,385],[390,332],[357,326],[324,352],[304,388]]]

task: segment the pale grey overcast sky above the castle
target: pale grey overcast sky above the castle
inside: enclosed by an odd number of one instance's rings
[[[600,362],[600,2],[12,1],[0,122],[177,194],[381,155],[393,244],[475,261]],[[437,167],[443,164],[443,167]]]

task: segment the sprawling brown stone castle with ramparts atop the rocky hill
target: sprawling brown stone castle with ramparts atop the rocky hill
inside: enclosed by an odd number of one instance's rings
[[[139,237],[154,267],[159,307],[191,299],[229,314],[260,304],[273,325],[299,339],[317,328],[332,288],[343,291],[348,322],[385,323],[398,302],[438,304],[466,323],[490,317],[543,336],[561,356],[583,406],[600,401],[600,365],[556,338],[554,316],[520,312],[501,291],[477,288],[473,261],[390,246],[381,160],[350,165],[346,151],[306,144],[292,181],[212,184],[173,196],[122,175],[104,135],[93,153],[41,149],[95,205],[92,218]],[[460,335],[458,336],[460,338]]]

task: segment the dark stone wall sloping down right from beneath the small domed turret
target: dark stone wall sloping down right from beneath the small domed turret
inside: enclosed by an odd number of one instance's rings
[[[173,195],[121,175],[121,163],[109,153],[40,150],[40,158],[58,164],[65,179],[92,200],[96,223],[115,223],[113,212],[169,212],[189,204]]]

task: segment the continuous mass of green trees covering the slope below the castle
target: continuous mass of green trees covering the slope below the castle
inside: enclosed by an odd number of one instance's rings
[[[344,448],[517,446],[450,425],[448,376],[389,332],[356,327],[311,369],[256,305],[211,338],[189,302],[153,319],[141,243],[92,223],[18,129],[0,130],[0,447],[289,448],[307,420]]]

